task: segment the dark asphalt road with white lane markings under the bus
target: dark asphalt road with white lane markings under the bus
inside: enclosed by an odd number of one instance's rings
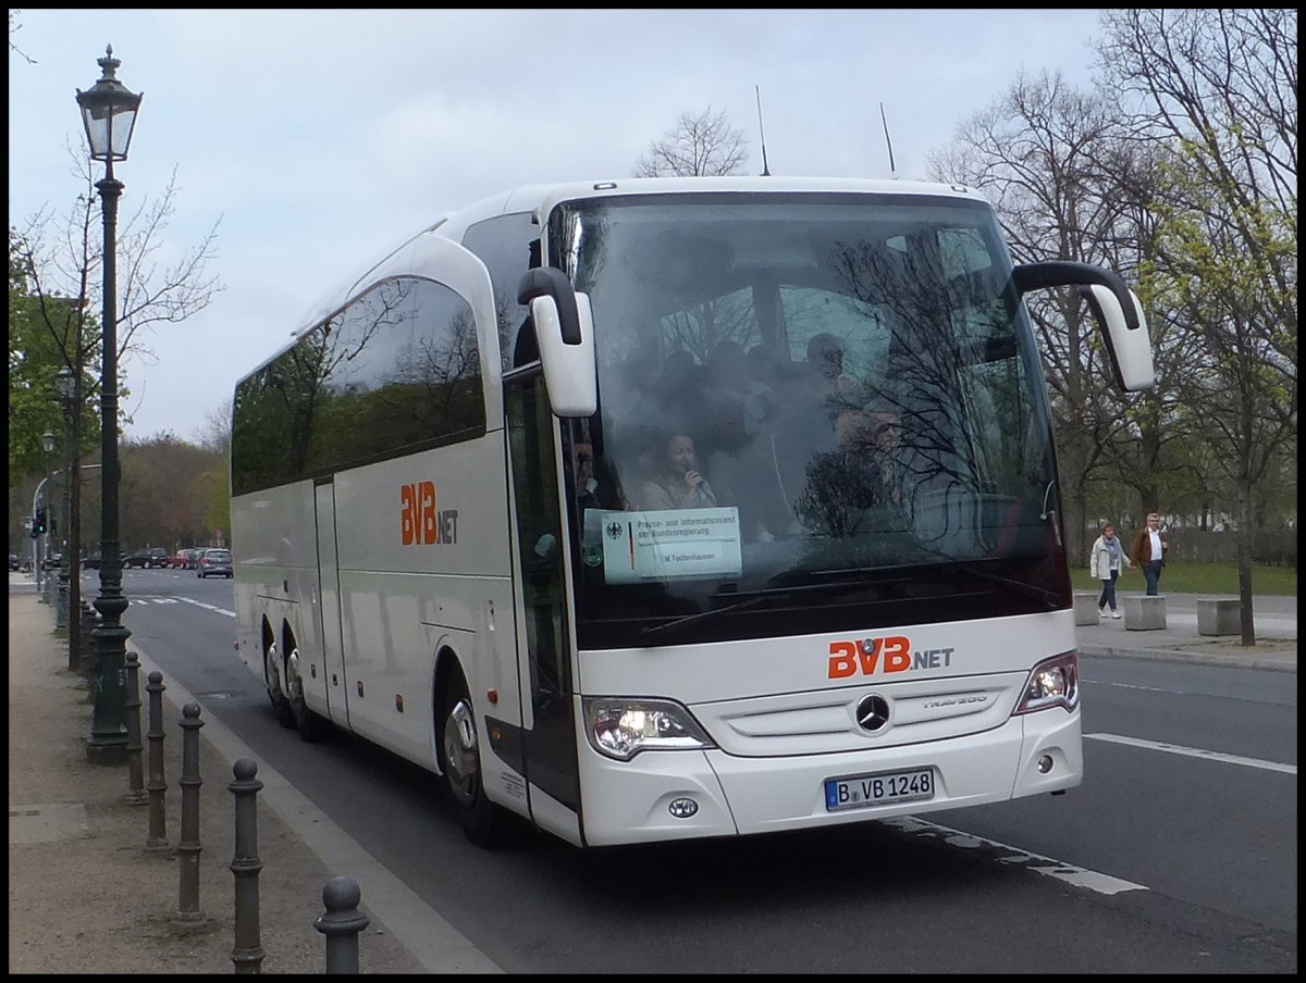
[[[185,573],[127,574],[129,646],[505,971],[1296,973],[1290,675],[1085,657],[1085,782],[1063,796],[829,833],[589,852],[528,835],[486,852],[434,775],[278,727],[232,650],[230,581]]]

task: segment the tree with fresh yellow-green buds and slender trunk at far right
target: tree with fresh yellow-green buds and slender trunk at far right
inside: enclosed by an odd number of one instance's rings
[[[1104,25],[1107,82],[1169,148],[1152,286],[1188,341],[1183,401],[1237,492],[1254,645],[1256,486],[1297,435],[1297,12],[1122,9]]]

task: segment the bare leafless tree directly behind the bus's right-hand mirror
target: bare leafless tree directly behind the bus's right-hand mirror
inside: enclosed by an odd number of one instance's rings
[[[1059,73],[1020,76],[964,121],[929,167],[935,180],[985,191],[1017,261],[1062,258],[1131,270],[1139,262],[1138,217],[1122,206],[1118,178],[1102,164],[1107,154],[1123,155],[1123,136],[1101,97],[1076,91]],[[1119,521],[1130,504],[1118,493],[1089,501],[1093,475],[1111,463],[1107,449],[1141,443],[1158,453],[1161,431],[1147,426],[1157,413],[1141,411],[1155,397],[1122,394],[1109,384],[1105,352],[1077,291],[1029,296],[1027,305],[1051,389],[1070,555],[1083,563],[1091,505]],[[1113,492],[1121,487],[1118,480],[1101,484]]]

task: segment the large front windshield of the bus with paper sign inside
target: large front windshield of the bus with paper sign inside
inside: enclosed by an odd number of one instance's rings
[[[547,235],[598,360],[598,413],[564,424],[582,649],[1068,604],[1043,377],[987,205],[609,197]]]

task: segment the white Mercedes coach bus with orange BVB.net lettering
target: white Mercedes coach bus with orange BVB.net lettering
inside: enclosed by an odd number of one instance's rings
[[[242,658],[306,739],[441,775],[487,846],[517,817],[606,846],[1063,792],[1023,304],[1055,286],[1151,386],[1119,277],[1013,266],[960,187],[632,179],[448,217],[236,385]]]

